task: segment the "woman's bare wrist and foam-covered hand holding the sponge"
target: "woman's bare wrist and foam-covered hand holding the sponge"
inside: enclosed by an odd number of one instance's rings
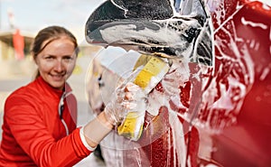
[[[86,142],[92,148],[112,130],[114,125],[119,125],[130,111],[145,111],[145,93],[132,82],[127,82],[118,87],[111,101],[96,118],[83,127]]]

